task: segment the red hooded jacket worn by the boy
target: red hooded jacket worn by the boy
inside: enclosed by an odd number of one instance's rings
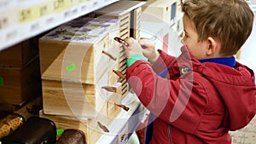
[[[152,144],[230,144],[229,130],[247,125],[256,112],[253,71],[201,63],[184,46],[179,57],[159,50],[154,66],[137,60],[126,78],[154,119]],[[170,67],[169,76],[159,73]]]

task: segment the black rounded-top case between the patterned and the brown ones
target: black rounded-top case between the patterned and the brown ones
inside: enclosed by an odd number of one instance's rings
[[[2,144],[54,144],[56,127],[47,118],[30,117],[11,135],[4,137]]]

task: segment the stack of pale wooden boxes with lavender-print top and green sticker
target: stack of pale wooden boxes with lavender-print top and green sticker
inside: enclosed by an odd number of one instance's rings
[[[108,132],[105,126],[124,107],[119,75],[113,72],[119,71],[122,50],[113,42],[113,37],[119,37],[118,26],[115,19],[82,17],[39,39],[43,87],[40,116],[53,120],[59,129],[83,130],[90,135],[88,143]],[[67,123],[68,119],[74,124]]]

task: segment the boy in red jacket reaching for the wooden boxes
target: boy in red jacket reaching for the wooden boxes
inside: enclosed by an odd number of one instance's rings
[[[181,8],[182,54],[128,38],[127,81],[154,114],[151,144],[229,144],[229,130],[255,115],[253,71],[233,56],[252,31],[253,12],[244,0],[186,0]]]

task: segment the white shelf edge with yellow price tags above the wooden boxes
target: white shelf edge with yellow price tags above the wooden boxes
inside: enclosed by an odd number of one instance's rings
[[[119,0],[2,0],[0,51]]]

